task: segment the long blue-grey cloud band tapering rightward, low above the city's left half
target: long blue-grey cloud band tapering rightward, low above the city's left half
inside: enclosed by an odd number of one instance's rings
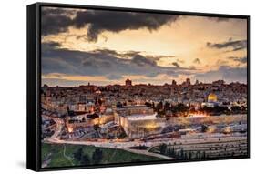
[[[128,59],[118,58],[113,50],[95,50],[90,52],[61,49],[53,43],[43,43],[42,73],[76,75],[76,76],[105,76],[108,79],[120,79],[125,75],[141,75],[156,77],[160,74],[171,76],[191,74],[195,69],[175,67],[160,67],[152,58],[134,55]]]

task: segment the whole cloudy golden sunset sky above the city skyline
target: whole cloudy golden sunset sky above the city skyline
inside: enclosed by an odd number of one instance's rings
[[[42,85],[247,83],[247,21],[42,7]]]

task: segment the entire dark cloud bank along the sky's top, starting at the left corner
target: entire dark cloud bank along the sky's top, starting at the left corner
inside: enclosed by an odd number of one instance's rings
[[[70,13],[58,9],[57,11],[44,8],[42,10],[42,35],[65,32],[68,26],[82,28],[87,26],[87,40],[97,41],[98,35],[104,31],[118,33],[123,30],[147,28],[149,31],[158,30],[160,26],[175,22],[179,15],[159,15],[148,13],[132,13],[103,10],[77,11],[75,17]]]

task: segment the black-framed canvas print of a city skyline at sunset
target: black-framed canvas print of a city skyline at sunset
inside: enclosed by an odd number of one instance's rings
[[[27,6],[27,168],[250,157],[250,21]]]

